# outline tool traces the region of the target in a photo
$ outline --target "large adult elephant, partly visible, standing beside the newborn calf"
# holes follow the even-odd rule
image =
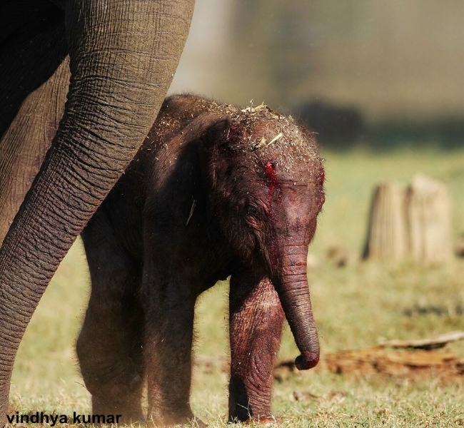
[[[0,241],[9,231],[0,250],[0,427],[24,330],[150,130],[193,4],[1,1]]]

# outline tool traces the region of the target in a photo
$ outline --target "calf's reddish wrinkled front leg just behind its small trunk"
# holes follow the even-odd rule
[[[232,275],[229,300],[229,421],[275,422],[272,371],[284,318],[277,292],[268,278],[245,271]]]

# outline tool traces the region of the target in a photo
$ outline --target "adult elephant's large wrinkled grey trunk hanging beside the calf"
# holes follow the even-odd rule
[[[193,0],[66,1],[68,101],[0,250],[0,422],[26,325],[156,118],[192,11]]]

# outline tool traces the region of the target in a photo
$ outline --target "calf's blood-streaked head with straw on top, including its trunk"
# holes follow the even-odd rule
[[[268,109],[211,117],[201,158],[211,210],[244,264],[267,275],[301,351],[319,345],[306,277],[308,245],[324,202],[324,170],[313,133]]]

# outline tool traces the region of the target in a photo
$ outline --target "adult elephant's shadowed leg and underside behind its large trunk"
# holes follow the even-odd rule
[[[17,3],[10,7],[24,16],[0,23],[0,245],[51,146],[69,83],[63,12],[46,0]]]

